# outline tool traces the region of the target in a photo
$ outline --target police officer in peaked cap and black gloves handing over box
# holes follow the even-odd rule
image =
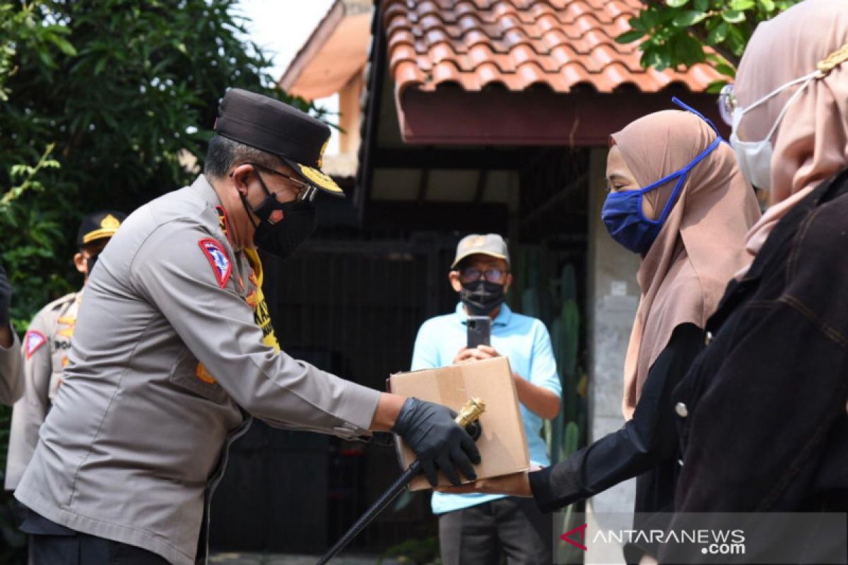
[[[36,561],[203,559],[204,509],[251,415],[347,438],[391,429],[431,482],[437,468],[475,476],[479,453],[448,408],[279,351],[255,248],[287,256],[315,228],[316,193],[343,196],[320,170],[330,130],[248,91],[228,91],[219,114],[204,174],[132,213],[86,286],[14,493]]]

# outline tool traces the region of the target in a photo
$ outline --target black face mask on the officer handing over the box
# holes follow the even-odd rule
[[[265,200],[259,204],[259,208],[251,210],[247,198],[241,197],[244,208],[259,218],[259,224],[254,224],[254,243],[262,251],[282,259],[287,258],[315,231],[315,207],[312,202],[278,202],[276,195],[265,186],[259,172],[256,169],[254,172],[265,191]],[[282,215],[275,214],[276,211],[282,212]],[[272,219],[272,216],[275,218]]]

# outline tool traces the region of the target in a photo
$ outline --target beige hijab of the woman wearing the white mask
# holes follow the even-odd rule
[[[844,0],[806,0],[760,24],[739,63],[734,86],[746,108],[790,80],[817,69],[817,63],[848,43]],[[799,86],[745,114],[737,135],[762,140]],[[789,210],[820,182],[848,166],[848,63],[812,80],[793,102],[773,139],[769,208],[748,232],[745,274],[768,235]]]

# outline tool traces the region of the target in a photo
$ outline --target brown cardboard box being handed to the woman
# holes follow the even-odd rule
[[[486,412],[480,417],[483,435],[477,440],[477,449],[483,458],[482,463],[475,466],[477,479],[519,473],[530,468],[516,385],[512,382],[512,370],[506,357],[398,373],[388,380],[394,394],[438,402],[456,412],[472,396],[486,402]],[[402,441],[399,443],[401,465],[408,468],[416,457]],[[460,478],[465,480],[462,474]],[[449,484],[447,477],[439,473],[439,485]],[[410,483],[410,490],[428,488],[430,484],[424,475]]]

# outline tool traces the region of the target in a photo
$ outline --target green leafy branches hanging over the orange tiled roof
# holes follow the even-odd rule
[[[666,69],[709,62],[733,78],[757,23],[801,0],[666,0],[644,2],[619,43],[640,42],[643,67]],[[711,86],[717,91],[724,84]]]

